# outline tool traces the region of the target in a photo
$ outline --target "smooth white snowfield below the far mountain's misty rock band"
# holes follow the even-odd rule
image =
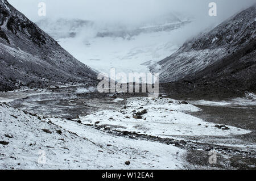
[[[69,37],[60,39],[59,44],[77,60],[101,73],[149,72],[146,61],[163,60],[179,46],[172,42],[173,32],[142,33],[131,39],[122,37]]]

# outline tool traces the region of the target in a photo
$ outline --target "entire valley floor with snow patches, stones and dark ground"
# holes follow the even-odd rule
[[[90,91],[0,93],[0,168],[255,169],[254,97],[184,102]]]

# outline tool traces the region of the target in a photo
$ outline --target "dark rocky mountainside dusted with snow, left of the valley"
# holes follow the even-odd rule
[[[0,90],[94,82],[96,73],[77,61],[6,0],[0,1]]]

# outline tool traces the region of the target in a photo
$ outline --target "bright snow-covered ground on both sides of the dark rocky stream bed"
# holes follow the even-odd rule
[[[184,136],[184,140],[185,136],[250,132],[229,125],[228,130],[216,128],[189,115],[200,108],[174,99],[138,97],[112,101],[126,104],[124,108],[102,107],[80,117],[82,123],[50,115],[38,117],[0,103],[0,169],[185,169],[188,165],[184,149],[115,136],[86,124],[162,138]],[[134,110],[147,112],[142,119],[135,119]],[[131,164],[127,166],[126,161]]]

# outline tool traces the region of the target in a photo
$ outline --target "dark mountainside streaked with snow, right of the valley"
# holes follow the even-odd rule
[[[252,87],[255,66],[255,5],[221,23],[208,33],[187,41],[170,57],[151,66],[160,82],[212,80]]]

